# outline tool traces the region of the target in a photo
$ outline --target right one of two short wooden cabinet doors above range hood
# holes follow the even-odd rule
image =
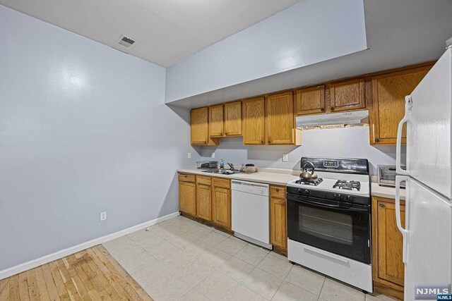
[[[365,108],[364,78],[330,85],[330,111]]]

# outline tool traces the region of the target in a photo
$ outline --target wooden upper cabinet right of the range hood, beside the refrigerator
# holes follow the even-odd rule
[[[405,115],[405,96],[411,94],[430,67],[372,78],[371,144],[395,145],[398,123]],[[406,143],[406,125],[402,142]]]

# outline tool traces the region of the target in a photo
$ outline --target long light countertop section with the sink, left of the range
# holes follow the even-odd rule
[[[258,168],[256,173],[234,173],[233,175],[219,175],[216,173],[204,173],[198,168],[181,168],[179,173],[194,173],[200,176],[212,176],[217,178],[230,178],[234,180],[247,180],[250,182],[266,183],[271,185],[286,185],[287,182],[298,178],[299,171],[278,168]],[[295,173],[295,174],[294,174]]]

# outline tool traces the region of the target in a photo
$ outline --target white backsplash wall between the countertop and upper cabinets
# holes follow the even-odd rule
[[[369,127],[304,130],[302,146],[243,145],[242,137],[221,138],[218,147],[198,147],[203,159],[224,159],[234,164],[251,163],[260,167],[299,169],[302,156],[325,156],[368,159],[371,173],[379,164],[396,165],[396,147],[369,145]],[[405,153],[405,147],[403,148]],[[289,161],[283,162],[283,154]],[[403,154],[402,161],[405,154]]]

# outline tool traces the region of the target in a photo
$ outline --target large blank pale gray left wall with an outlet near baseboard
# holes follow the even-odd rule
[[[0,271],[177,211],[165,68],[4,6],[0,41]]]

